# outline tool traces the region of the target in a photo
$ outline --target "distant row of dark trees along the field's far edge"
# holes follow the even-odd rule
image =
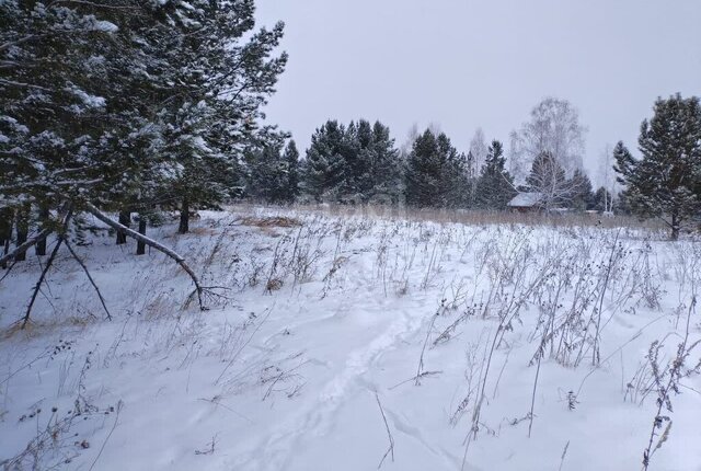
[[[612,195],[593,191],[576,169],[567,177],[551,152],[532,162],[525,184],[506,169],[504,146],[493,140],[478,159],[458,151],[445,133],[430,128],[400,151],[390,129],[360,119],[330,119],[311,137],[299,159],[294,140],[251,151],[244,197],[267,203],[405,204],[414,207],[502,210],[519,192],[540,194],[538,205],[576,210],[610,210]]]

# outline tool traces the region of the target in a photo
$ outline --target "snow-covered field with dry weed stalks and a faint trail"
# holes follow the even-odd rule
[[[678,366],[650,469],[701,470],[698,242],[243,207],[174,232],[206,312],[104,233],[78,252],[111,322],[68,252],[26,331],[39,261],[0,282],[7,469],[640,469]]]

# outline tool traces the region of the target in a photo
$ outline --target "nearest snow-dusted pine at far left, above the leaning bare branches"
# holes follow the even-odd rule
[[[129,94],[145,78],[130,72],[125,27],[150,15],[127,0],[0,3],[0,206],[22,215],[18,228],[35,215],[39,229],[58,230],[50,210],[108,205],[150,164],[133,152],[152,129]]]

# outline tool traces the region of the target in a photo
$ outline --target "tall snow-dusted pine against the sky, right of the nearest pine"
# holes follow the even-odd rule
[[[244,148],[271,131],[258,125],[261,108],[287,55],[273,57],[281,23],[250,33],[253,0],[170,1],[162,9],[173,34],[158,49],[169,76],[159,122],[165,153],[176,162],[166,193],[183,233],[192,210],[217,207],[239,192]]]

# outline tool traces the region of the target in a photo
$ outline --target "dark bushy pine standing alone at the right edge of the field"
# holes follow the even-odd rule
[[[673,240],[701,212],[701,104],[680,94],[658,99],[637,140],[642,160],[622,145],[614,150],[625,200],[641,217],[657,217]]]

